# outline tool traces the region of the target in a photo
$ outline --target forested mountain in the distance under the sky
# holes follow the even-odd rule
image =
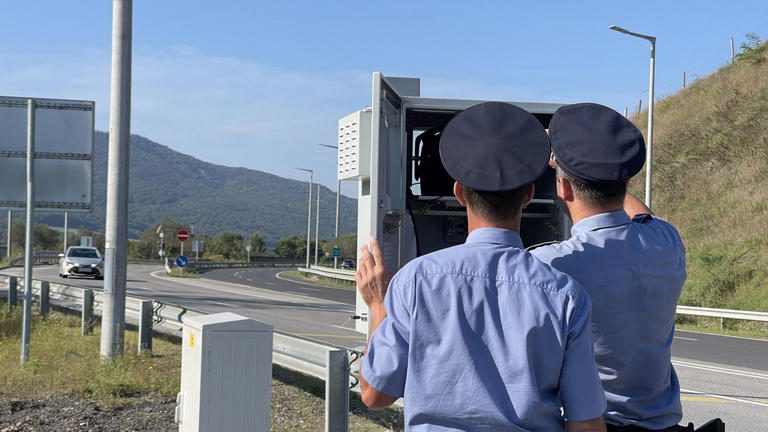
[[[109,136],[96,132],[93,160],[93,212],[70,213],[70,228],[104,230],[107,150]],[[307,232],[308,184],[262,171],[214,165],[195,159],[139,135],[131,136],[128,235],[164,217],[194,226],[196,234],[216,236],[224,231],[246,238],[261,232],[268,246],[293,234]],[[314,237],[317,186],[312,191]],[[63,225],[63,215],[38,213],[43,223]],[[320,187],[320,238],[332,239],[336,192]],[[341,196],[340,233],[354,233],[357,201]]]

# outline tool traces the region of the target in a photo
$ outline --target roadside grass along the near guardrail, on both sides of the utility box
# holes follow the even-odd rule
[[[80,320],[59,312],[45,319],[33,314],[30,361],[19,366],[20,309],[9,313],[7,303],[0,301],[0,399],[36,400],[66,394],[109,409],[141,403],[133,396],[154,393],[175,398],[179,391],[178,344],[155,338],[152,355],[137,355],[136,333],[126,331],[125,355],[103,363],[99,359],[100,328],[92,336],[80,336]],[[272,430],[322,430],[324,383],[279,367],[273,368],[273,377]],[[351,398],[350,408],[351,430],[402,428],[400,413],[368,411],[357,396]]]

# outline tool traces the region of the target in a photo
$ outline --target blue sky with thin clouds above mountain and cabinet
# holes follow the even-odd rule
[[[97,103],[108,129],[111,2],[4,1],[0,94]],[[754,1],[134,1],[132,132],[205,161],[335,189],[340,117],[370,104],[370,75],[422,95],[647,104],[724,65],[729,39],[768,37]],[[345,192],[348,190],[345,189]]]

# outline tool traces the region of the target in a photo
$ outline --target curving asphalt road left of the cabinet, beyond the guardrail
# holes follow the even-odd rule
[[[200,312],[235,312],[270,323],[281,332],[360,349],[365,336],[354,330],[350,318],[355,313],[354,291],[279,278],[278,274],[284,271],[272,268],[215,270],[206,273],[204,278],[187,279],[169,278],[159,265],[131,265],[127,290],[131,296]],[[18,268],[3,273],[23,275]],[[36,267],[33,277],[97,290],[104,286],[104,281],[90,278],[62,279],[57,267]]]

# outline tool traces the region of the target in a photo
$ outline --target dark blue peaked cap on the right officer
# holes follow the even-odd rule
[[[616,111],[593,103],[566,105],[549,122],[557,165],[588,182],[625,181],[645,163],[643,135]]]

